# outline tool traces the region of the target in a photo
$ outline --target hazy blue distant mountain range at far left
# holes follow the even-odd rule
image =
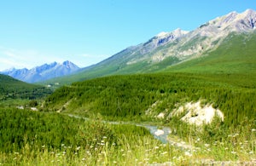
[[[54,77],[62,77],[73,72],[79,71],[79,66],[76,66],[71,61],[64,61],[63,63],[53,62],[51,64],[44,64],[43,66],[36,66],[31,70],[23,69],[9,69],[0,72],[11,77],[15,77],[26,83],[36,83]]]

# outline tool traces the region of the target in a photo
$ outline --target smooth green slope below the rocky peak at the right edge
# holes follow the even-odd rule
[[[226,73],[256,76],[256,31],[231,33],[205,56],[170,66],[168,72]]]

